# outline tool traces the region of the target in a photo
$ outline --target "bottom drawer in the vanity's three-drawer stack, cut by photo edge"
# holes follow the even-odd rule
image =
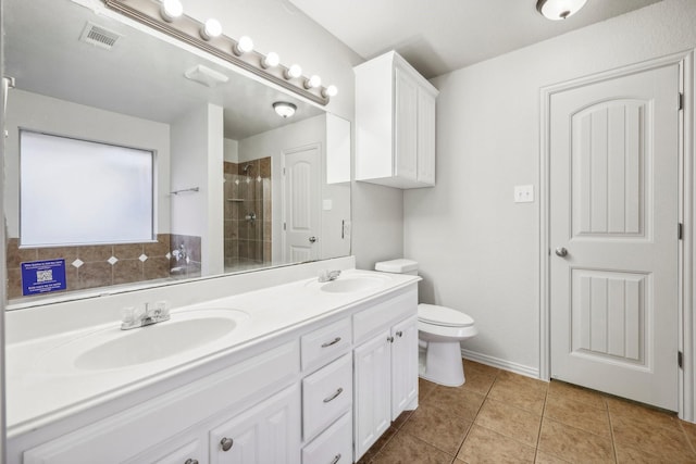
[[[350,464],[352,462],[352,415],[344,414],[302,449],[302,464]]]

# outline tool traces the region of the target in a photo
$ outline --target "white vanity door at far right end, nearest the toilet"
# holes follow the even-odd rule
[[[391,421],[418,398],[418,316],[391,328]]]

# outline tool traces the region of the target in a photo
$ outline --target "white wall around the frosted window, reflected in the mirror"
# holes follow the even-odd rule
[[[8,237],[20,236],[20,128],[154,150],[156,231],[170,231],[170,126],[12,89],[8,98],[4,215]]]

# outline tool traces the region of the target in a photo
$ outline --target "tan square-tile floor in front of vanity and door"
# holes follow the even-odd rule
[[[464,361],[457,388],[420,380],[420,405],[359,464],[696,463],[696,425],[568,384]]]

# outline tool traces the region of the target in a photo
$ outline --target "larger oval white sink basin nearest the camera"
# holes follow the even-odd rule
[[[234,335],[249,318],[244,311],[206,309],[173,312],[166,322],[121,330],[110,327],[72,340],[45,356],[51,365],[69,363],[77,371],[137,366],[170,356],[202,355]]]

